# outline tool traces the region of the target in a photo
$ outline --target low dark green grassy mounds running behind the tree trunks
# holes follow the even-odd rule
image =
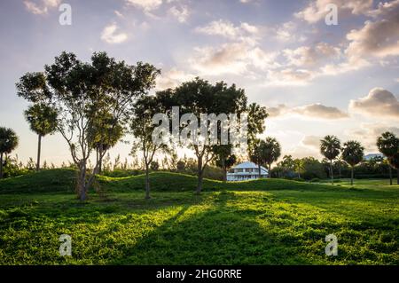
[[[21,177],[0,180],[0,193],[73,193],[76,174],[72,169],[49,169]],[[143,191],[145,175],[132,177],[98,178],[102,191],[109,193],[130,193]],[[197,177],[169,173],[154,172],[150,175],[153,192],[192,192],[197,187]],[[332,190],[329,185],[314,185],[282,179],[261,179],[244,182],[221,182],[204,179],[204,191],[220,190]]]

